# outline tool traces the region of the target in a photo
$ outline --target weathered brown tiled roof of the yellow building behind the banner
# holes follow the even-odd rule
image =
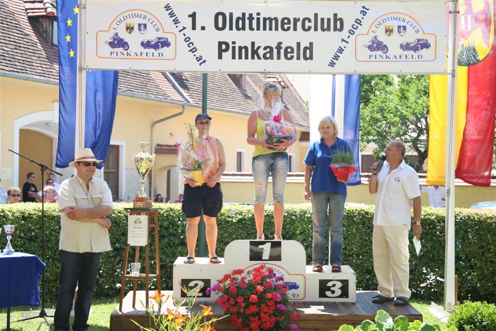
[[[55,8],[54,2],[55,0],[0,0],[0,71],[58,81],[58,49],[34,28],[31,20],[38,18],[28,18],[43,16],[41,6],[46,9],[53,5]],[[201,104],[201,73],[171,73],[171,76],[190,103]],[[246,115],[257,109],[264,79],[260,74],[249,74],[246,77],[246,89],[243,90],[225,73],[209,74],[208,106]],[[270,78],[284,87],[283,100],[295,124],[308,128],[306,106],[291,82],[285,75]],[[164,73],[156,71],[120,71],[119,92],[186,102]]]

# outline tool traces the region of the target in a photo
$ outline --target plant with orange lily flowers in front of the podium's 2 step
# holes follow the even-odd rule
[[[189,293],[189,290],[185,287],[182,286],[181,289],[183,292]],[[140,328],[140,331],[215,331],[213,325],[217,320],[224,317],[209,318],[209,316],[213,315],[212,307],[200,305],[201,311],[196,314],[192,313],[192,308],[196,302],[196,295],[199,290],[200,288],[197,288],[193,296],[186,297],[181,301],[175,300],[170,295],[166,296],[156,290],[155,295],[150,296],[150,299],[153,299],[157,306],[156,311],[153,308],[155,305],[150,309],[141,303],[145,307],[146,313],[150,316],[150,327],[142,327],[136,321],[131,321]],[[164,307],[169,299],[172,300],[169,304],[172,303],[173,309]],[[180,307],[182,306],[183,310],[186,311],[185,314],[180,312]]]

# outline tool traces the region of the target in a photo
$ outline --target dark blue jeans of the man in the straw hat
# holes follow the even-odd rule
[[[61,250],[59,255],[61,257],[60,288],[54,327],[56,330],[69,331],[69,316],[77,285],[72,330],[85,330],[88,328],[88,315],[102,253],[72,253]]]

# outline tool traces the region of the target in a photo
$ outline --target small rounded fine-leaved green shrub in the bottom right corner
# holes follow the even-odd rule
[[[464,302],[449,316],[449,326],[459,331],[495,331],[496,306],[487,302]]]

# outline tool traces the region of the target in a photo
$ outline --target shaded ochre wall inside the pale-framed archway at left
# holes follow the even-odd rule
[[[33,160],[49,165],[52,163],[52,141],[53,139],[43,133],[32,130],[20,130],[19,133],[19,154],[25,155]],[[33,148],[36,146],[36,148]],[[22,190],[22,184],[26,182],[28,172],[34,172],[34,184],[38,191],[43,188],[41,182],[40,167],[34,163],[30,163],[25,159],[19,159],[19,187]],[[45,174],[44,180],[47,181],[48,176]]]

